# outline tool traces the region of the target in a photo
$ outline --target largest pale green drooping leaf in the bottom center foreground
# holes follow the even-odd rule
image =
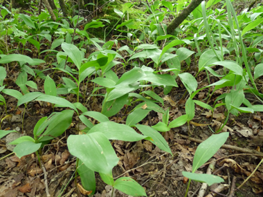
[[[118,164],[119,159],[103,133],[69,135],[67,144],[69,152],[80,158],[92,171],[110,174],[114,166]]]

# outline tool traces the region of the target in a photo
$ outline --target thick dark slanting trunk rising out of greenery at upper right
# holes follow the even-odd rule
[[[183,11],[176,17],[170,24],[167,26],[167,34],[172,34],[172,32],[179,27],[179,25],[190,15],[192,11],[194,11],[197,6],[202,2],[203,0],[192,0],[190,4],[183,9]]]

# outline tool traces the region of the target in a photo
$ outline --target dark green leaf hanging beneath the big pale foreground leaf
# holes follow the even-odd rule
[[[96,179],[94,171],[84,165],[84,163],[80,159],[78,161],[77,169],[83,188],[87,191],[92,191],[91,195],[93,195],[96,189]]]

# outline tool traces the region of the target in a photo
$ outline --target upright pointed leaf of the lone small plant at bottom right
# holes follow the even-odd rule
[[[226,142],[229,133],[220,133],[211,135],[208,139],[201,142],[194,153],[194,161],[192,163],[192,172],[196,171],[207,162]]]

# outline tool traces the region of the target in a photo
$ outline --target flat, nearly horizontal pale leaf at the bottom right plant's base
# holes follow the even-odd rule
[[[219,177],[219,176],[215,176],[212,174],[206,174],[206,173],[191,173],[188,171],[182,171],[183,176],[191,179],[191,180],[195,180],[197,182],[206,182],[208,184],[208,186],[213,185],[214,183],[219,183],[219,182],[224,182],[224,179]]]

